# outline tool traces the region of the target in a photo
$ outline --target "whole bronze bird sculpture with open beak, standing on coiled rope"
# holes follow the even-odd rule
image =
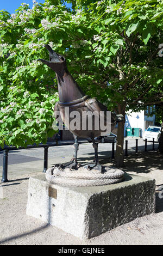
[[[58,81],[58,92],[59,92],[59,102],[55,105],[55,111],[59,111],[62,116],[62,120],[64,121],[65,125],[68,127],[70,122],[70,119],[66,119],[65,117],[65,107],[69,107],[70,113],[74,110],[78,111],[80,113],[80,117],[88,119],[88,117],[84,117],[82,114],[87,113],[90,111],[91,113],[104,113],[104,119],[106,121],[106,112],[108,109],[99,102],[96,98],[92,98],[88,95],[85,95],[82,89],[78,86],[76,81],[74,81],[73,77],[70,75],[70,73],[67,70],[66,66],[66,60],[63,56],[55,53],[52,48],[49,45],[45,45],[49,52],[49,61],[44,59],[38,59],[44,64],[48,65],[49,68],[51,68],[57,76]],[[101,130],[95,129],[95,119],[93,120],[92,129],[90,130],[89,127],[86,127],[85,130],[82,130],[82,127],[80,130],[71,130],[74,134],[74,156],[73,159],[70,162],[67,163],[61,163],[61,164],[55,164],[55,167],[59,167],[60,169],[64,168],[71,168],[76,169],[80,167],[81,165],[78,164],[77,161],[77,151],[79,147],[78,143],[78,137],[82,138],[88,138],[90,137],[93,142],[93,148],[95,149],[95,160],[91,163],[85,164],[85,167],[87,169],[98,169],[102,170],[102,166],[98,162],[98,143],[95,142],[95,137],[98,137],[101,135]],[[118,121],[122,121],[123,116],[122,115],[116,115],[115,113],[111,112],[111,129],[116,125]]]

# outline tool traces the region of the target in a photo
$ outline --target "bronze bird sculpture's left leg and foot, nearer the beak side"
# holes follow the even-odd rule
[[[54,167],[58,167],[59,169],[65,169],[65,168],[70,168],[71,170],[77,169],[78,167],[77,154],[79,149],[78,136],[74,136],[73,146],[74,146],[74,153],[71,161],[66,163],[57,163],[54,165]]]

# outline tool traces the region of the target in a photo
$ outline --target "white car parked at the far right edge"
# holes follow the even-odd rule
[[[148,129],[143,134],[143,140],[147,139],[147,141],[160,142],[161,136],[161,127],[159,126],[149,126]]]

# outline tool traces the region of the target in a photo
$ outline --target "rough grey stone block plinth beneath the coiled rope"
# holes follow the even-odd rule
[[[29,179],[27,215],[87,239],[155,212],[155,180],[125,174],[118,184],[62,187]]]

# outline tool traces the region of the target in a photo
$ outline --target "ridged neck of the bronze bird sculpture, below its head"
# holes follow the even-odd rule
[[[60,102],[64,103],[77,100],[85,95],[82,89],[80,89],[76,81],[74,81],[73,77],[68,72],[65,72],[62,78],[57,75],[57,80]]]

